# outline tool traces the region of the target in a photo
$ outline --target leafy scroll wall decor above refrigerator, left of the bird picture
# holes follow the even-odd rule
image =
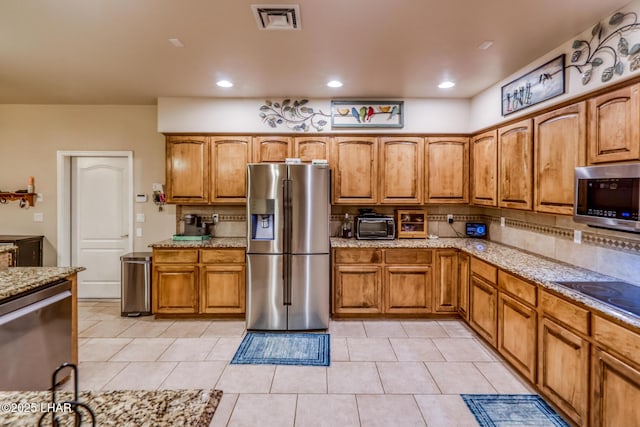
[[[325,118],[331,117],[322,110],[315,110],[308,106],[308,99],[291,100],[282,102],[266,100],[260,107],[259,116],[263,123],[276,128],[284,126],[291,130],[307,132],[315,129],[320,132],[329,123]]]

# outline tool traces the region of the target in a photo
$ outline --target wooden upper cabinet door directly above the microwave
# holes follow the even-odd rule
[[[589,100],[589,163],[640,160],[640,84]]]

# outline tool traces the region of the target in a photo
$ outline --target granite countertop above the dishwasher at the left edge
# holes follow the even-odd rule
[[[63,279],[84,267],[10,267],[0,271],[0,301]]]

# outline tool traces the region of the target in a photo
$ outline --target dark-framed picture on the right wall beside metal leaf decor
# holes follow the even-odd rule
[[[564,93],[564,54],[502,86],[502,115]]]

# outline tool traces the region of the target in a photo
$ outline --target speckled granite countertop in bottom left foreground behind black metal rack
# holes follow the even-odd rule
[[[59,392],[57,401],[72,397],[71,392]],[[205,427],[211,423],[221,397],[219,390],[114,390],[83,391],[78,400],[92,409],[96,426]],[[0,425],[37,426],[49,404],[48,391],[1,391]],[[61,425],[73,425],[68,406],[58,405],[55,411],[63,421]],[[83,421],[89,419],[88,415],[83,417]],[[50,418],[46,420],[50,425]]]

